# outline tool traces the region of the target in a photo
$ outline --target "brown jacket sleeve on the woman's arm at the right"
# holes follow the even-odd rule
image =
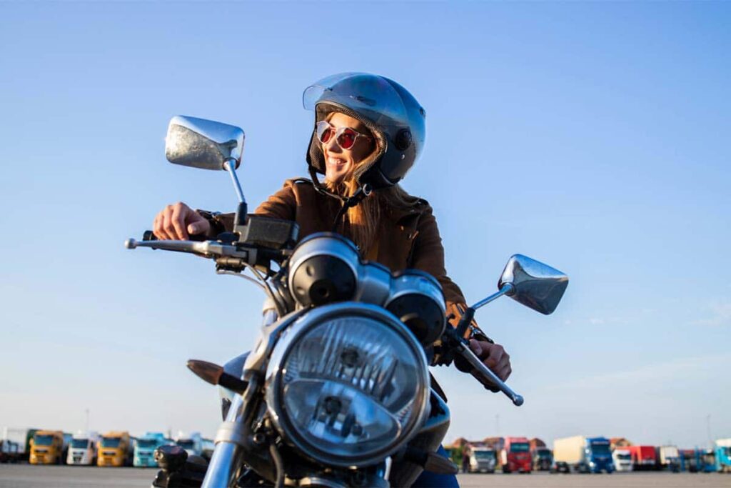
[[[447,270],[444,269],[442,237],[439,235],[439,228],[436,225],[431,207],[423,211],[417,224],[410,263],[413,268],[431,274],[442,285],[444,301],[447,305],[447,317],[452,317],[450,318],[450,324],[452,327],[456,327],[467,305],[462,290],[447,276]],[[465,334],[466,337],[475,337],[492,342],[474,320]]]

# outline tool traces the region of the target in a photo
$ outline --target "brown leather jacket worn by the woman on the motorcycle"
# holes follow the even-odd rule
[[[254,213],[295,220],[300,226],[302,239],[311,233],[333,230],[333,221],[340,206],[335,198],[317,192],[310,181],[289,179]],[[232,230],[233,214],[221,215],[218,219],[226,230]],[[385,212],[379,231],[376,261],[391,271],[420,269],[435,277],[444,290],[447,314],[455,315],[456,320],[452,319],[452,325],[456,325],[461,311],[466,308],[465,299],[444,269],[442,238],[431,206],[425,200],[420,200],[413,209],[388,209]],[[484,336],[474,323],[473,332]]]

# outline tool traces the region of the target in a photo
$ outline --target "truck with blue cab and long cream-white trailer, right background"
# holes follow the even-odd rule
[[[556,462],[566,462],[581,473],[614,472],[609,439],[605,437],[588,438],[575,435],[553,440],[553,459]]]

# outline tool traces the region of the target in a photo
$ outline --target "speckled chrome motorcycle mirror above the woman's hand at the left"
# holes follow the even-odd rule
[[[176,165],[205,170],[223,170],[228,159],[240,165],[243,130],[212,120],[175,116],[165,138],[165,157]]]

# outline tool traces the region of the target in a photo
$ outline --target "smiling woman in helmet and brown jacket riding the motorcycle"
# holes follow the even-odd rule
[[[444,269],[444,248],[431,206],[398,185],[423,149],[424,109],[398,83],[366,73],[319,80],[305,90],[303,102],[315,112],[306,157],[311,180],[285,181],[255,213],[295,220],[300,238],[336,230],[357,244],[363,258],[391,271],[428,272],[441,283],[455,325],[465,299]],[[324,182],[317,173],[325,175]],[[159,239],[196,239],[213,238],[232,226],[232,214],[194,211],[175,203],[157,214],[153,229]],[[474,323],[467,334],[474,353],[499,378],[507,379],[510,356],[504,349]],[[456,479],[424,473],[415,486],[430,485],[456,486]]]

